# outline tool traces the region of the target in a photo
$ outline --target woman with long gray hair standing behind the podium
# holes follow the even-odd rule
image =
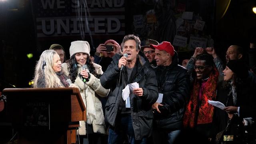
[[[60,56],[54,50],[45,50],[36,63],[34,88],[75,87],[66,82],[68,76],[61,70]]]

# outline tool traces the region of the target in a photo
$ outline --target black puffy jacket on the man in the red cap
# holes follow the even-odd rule
[[[182,128],[182,117],[189,97],[190,76],[188,70],[178,65],[175,52],[172,64],[154,69],[158,81],[158,91],[163,94],[163,101],[158,106],[161,113],[154,112],[154,127],[168,131]]]

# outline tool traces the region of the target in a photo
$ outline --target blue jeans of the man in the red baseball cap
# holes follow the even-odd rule
[[[174,144],[180,133],[181,130],[174,130],[172,132],[153,130],[153,142],[154,144]]]

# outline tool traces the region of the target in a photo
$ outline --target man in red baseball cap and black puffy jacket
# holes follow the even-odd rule
[[[153,141],[154,144],[173,144],[182,130],[190,77],[188,70],[178,65],[178,54],[170,42],[150,44],[150,48],[155,48],[157,67],[154,70],[159,97],[162,97],[162,101],[152,105]]]

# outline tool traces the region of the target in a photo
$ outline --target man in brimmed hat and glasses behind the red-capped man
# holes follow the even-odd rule
[[[149,45],[154,44],[158,45],[159,43],[156,40],[148,39],[146,40],[145,46],[141,46],[140,50],[145,54],[148,58],[149,64],[152,68],[156,67],[156,60],[154,59],[156,56],[155,48],[150,48]]]

